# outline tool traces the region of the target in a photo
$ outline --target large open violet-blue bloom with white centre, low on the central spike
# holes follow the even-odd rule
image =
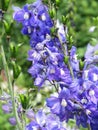
[[[69,118],[73,118],[73,103],[71,102],[70,98],[71,95],[69,89],[64,88],[61,90],[58,97],[51,96],[46,100],[47,106],[50,107],[52,113],[59,116],[61,121],[68,121]]]

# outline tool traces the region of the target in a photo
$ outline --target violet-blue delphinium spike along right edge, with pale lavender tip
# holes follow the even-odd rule
[[[97,47],[97,45],[96,45]],[[87,127],[87,124],[90,125],[92,123],[92,117],[94,113],[97,111],[97,103],[98,103],[98,67],[96,62],[93,61],[93,54],[88,53],[92,51],[92,53],[96,50],[95,47],[92,47],[93,50],[88,50],[85,54],[85,64],[83,71],[81,73],[81,89],[78,91],[77,102],[79,102],[82,106],[82,109],[79,110],[79,113],[76,115],[77,125],[82,124],[83,127]],[[88,57],[87,57],[88,55]],[[91,62],[89,62],[92,59]],[[78,111],[77,111],[78,112]]]

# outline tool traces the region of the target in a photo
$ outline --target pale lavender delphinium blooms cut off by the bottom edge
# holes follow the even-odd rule
[[[26,126],[26,130],[65,130],[55,114],[45,114],[42,110],[32,113],[32,121]]]

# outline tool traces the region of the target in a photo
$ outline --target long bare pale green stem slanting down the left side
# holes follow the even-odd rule
[[[16,121],[17,121],[18,129],[22,130],[20,119],[18,117],[18,113],[17,113],[17,109],[16,109],[14,90],[13,90],[13,86],[12,86],[12,82],[11,82],[11,78],[10,78],[10,73],[9,73],[7,61],[6,61],[6,58],[5,58],[3,45],[0,46],[0,49],[1,49],[1,56],[2,56],[2,61],[3,61],[3,65],[4,65],[4,70],[5,70],[5,73],[6,73],[7,80],[8,80],[8,88],[9,88],[9,92],[10,92],[11,99],[12,99],[13,112],[14,112],[14,115],[15,115],[15,118],[16,118]]]

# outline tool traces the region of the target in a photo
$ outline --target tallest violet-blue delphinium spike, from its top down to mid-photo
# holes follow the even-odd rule
[[[53,21],[47,7],[40,0],[31,5],[25,5],[23,9],[16,7],[14,9],[14,19],[22,23],[23,34],[30,36],[32,49],[29,51],[28,60],[32,61],[32,67],[29,69],[29,73],[35,79],[34,84],[42,86],[46,80],[65,84],[70,82],[71,76],[63,61],[64,54],[60,40],[58,37],[52,38],[50,35]],[[61,34],[60,31],[59,34]],[[65,42],[64,33],[60,37],[63,37],[63,42]]]

